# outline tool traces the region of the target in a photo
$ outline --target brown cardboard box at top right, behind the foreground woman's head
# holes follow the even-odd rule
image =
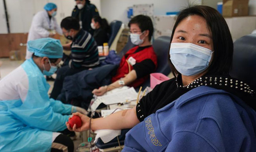
[[[223,0],[222,15],[224,17],[248,16],[249,0]]]

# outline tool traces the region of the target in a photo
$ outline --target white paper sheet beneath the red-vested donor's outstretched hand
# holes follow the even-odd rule
[[[98,97],[98,99],[102,100],[102,103],[108,105],[108,104],[116,104],[116,103],[124,103],[126,100],[132,101],[136,100],[138,96],[138,93],[135,91],[133,87],[118,91],[113,94],[107,94]]]

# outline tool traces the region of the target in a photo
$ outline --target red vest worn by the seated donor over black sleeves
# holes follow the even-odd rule
[[[152,46],[145,48],[137,53],[134,53],[139,46],[135,46],[134,48],[130,49],[127,53],[125,53],[124,57],[122,58],[120,65],[116,71],[116,75],[112,77],[112,82],[115,82],[116,80],[120,80],[120,78],[124,78],[126,74],[129,73],[129,67],[131,71],[133,70],[133,67],[131,64],[127,63],[127,60],[132,57],[136,60],[136,63],[139,63],[143,60],[150,59],[153,61],[153,63],[157,67],[157,56],[156,53],[154,52],[154,49]],[[156,69],[156,68],[155,68]],[[129,87],[139,87],[146,79],[148,76],[144,76],[143,78],[136,79],[133,81]]]

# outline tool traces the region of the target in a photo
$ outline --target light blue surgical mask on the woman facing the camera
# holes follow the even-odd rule
[[[178,72],[193,76],[207,69],[212,53],[210,49],[192,43],[172,43],[170,60]]]

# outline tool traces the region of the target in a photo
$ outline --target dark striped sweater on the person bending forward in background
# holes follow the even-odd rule
[[[94,67],[100,64],[98,48],[90,33],[80,30],[71,44],[70,68]]]

